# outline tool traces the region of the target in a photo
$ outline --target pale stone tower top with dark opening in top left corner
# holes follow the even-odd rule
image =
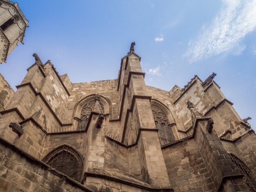
[[[25,36],[27,23],[18,3],[0,0],[0,63],[6,62],[7,56]]]

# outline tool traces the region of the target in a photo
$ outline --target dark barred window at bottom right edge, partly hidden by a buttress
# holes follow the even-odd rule
[[[236,171],[240,174],[243,174],[243,180],[245,181],[245,184],[247,185],[247,188],[250,191],[254,191],[256,192],[256,180],[253,176],[253,174],[251,173],[251,171],[247,168],[247,166],[240,161],[236,156],[229,154],[232,162],[234,163],[235,167],[236,167]]]

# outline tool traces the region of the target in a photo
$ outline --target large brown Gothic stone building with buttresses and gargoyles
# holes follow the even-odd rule
[[[117,79],[38,58],[16,92],[0,76],[0,191],[256,191],[256,135],[215,75],[150,87],[130,49]]]

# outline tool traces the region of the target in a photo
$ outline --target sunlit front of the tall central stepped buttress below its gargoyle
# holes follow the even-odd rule
[[[135,129],[138,133],[137,145],[143,179],[155,188],[170,187],[160,141],[150,106],[144,73],[141,71],[139,58],[136,54],[128,55],[127,73],[131,109]]]

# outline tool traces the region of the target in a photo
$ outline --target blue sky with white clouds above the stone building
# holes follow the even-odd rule
[[[0,65],[16,90],[34,63],[48,59],[72,83],[117,78],[135,41],[147,85],[170,90],[212,72],[242,118],[256,127],[256,0],[17,0],[29,20]]]

